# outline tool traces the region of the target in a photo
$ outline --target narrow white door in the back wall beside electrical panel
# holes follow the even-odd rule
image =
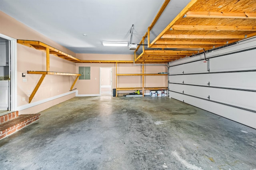
[[[112,95],[112,68],[100,68],[100,96]]]

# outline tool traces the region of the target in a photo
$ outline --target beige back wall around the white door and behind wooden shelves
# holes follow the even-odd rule
[[[133,55],[103,55],[103,54],[76,54],[82,60],[133,60]],[[79,95],[100,94],[100,67],[112,67],[112,88],[116,88],[116,65],[115,64],[87,64],[77,63],[79,66],[91,67],[91,80],[78,80],[76,87]],[[144,66],[145,73],[167,72],[166,66]],[[142,66],[134,64],[117,64],[118,74],[142,73]],[[118,87],[142,87],[142,76],[118,76]],[[145,76],[145,87],[167,87],[167,76]],[[120,93],[126,93],[122,91]],[[131,92],[131,91],[128,91]],[[146,91],[148,93],[149,91]]]

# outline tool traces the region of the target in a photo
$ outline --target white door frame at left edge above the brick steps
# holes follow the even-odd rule
[[[17,108],[17,39],[1,34],[0,37],[10,41],[10,99],[9,110],[16,111]]]

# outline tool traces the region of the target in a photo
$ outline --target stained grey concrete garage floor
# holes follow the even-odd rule
[[[250,170],[256,129],[167,97],[76,97],[0,141],[1,170]]]

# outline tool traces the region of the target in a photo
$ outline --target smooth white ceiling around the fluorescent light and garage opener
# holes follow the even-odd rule
[[[179,1],[182,0],[171,0],[174,13],[168,18],[174,18],[187,3],[178,5]],[[0,10],[75,53],[133,54],[128,47],[104,47],[102,41],[130,42],[134,24],[132,43],[140,43],[163,3],[164,0],[0,0]]]

